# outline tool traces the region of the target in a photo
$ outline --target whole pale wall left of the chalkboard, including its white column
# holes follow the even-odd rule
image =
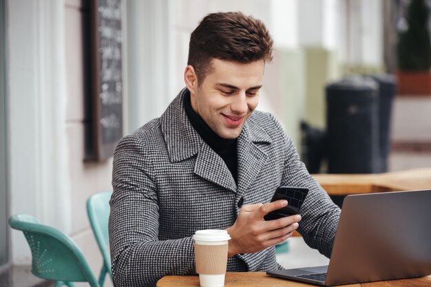
[[[85,202],[112,189],[112,159],[84,162],[87,3],[8,1],[10,213],[29,213],[70,235],[98,275],[102,260]],[[23,234],[11,237],[12,263],[29,265]]]

